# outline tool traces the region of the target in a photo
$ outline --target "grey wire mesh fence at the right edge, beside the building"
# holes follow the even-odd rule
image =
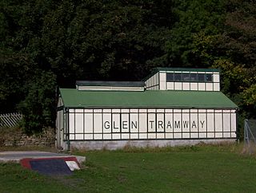
[[[256,120],[245,120],[244,142],[247,153],[256,152]]]

